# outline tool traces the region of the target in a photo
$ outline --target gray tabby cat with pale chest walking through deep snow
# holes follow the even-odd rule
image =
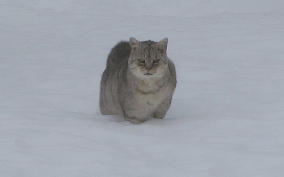
[[[160,42],[119,42],[102,74],[99,107],[104,115],[122,115],[135,124],[163,119],[177,84],[175,65],[167,57],[168,38]]]

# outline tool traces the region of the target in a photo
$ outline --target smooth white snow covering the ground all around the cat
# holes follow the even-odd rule
[[[283,176],[283,1],[0,1],[0,176]],[[119,40],[169,38],[163,120],[99,113]]]

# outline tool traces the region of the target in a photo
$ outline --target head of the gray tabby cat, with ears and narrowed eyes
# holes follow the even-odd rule
[[[140,78],[162,77],[168,69],[167,45],[168,38],[154,42],[139,42],[129,39],[131,54],[129,57],[130,71]]]

